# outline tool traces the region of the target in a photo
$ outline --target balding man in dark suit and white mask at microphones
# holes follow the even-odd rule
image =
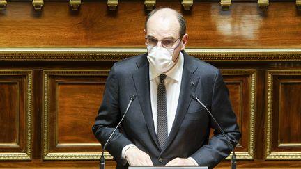
[[[105,144],[136,95],[120,129],[107,145],[116,168],[131,166],[208,166],[229,155],[231,147],[198,96],[224,129],[233,147],[240,131],[222,74],[212,65],[188,56],[185,19],[176,10],[160,8],[146,18],[148,53],[111,67],[102,105],[93,126]],[[214,136],[209,138],[210,129]]]

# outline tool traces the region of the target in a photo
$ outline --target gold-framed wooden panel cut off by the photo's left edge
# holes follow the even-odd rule
[[[30,70],[0,70],[0,120],[0,159],[31,159]]]

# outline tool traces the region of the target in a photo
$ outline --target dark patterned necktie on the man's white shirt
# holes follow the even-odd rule
[[[167,77],[165,74],[160,75],[160,82],[157,88],[157,139],[161,150],[167,141],[167,97],[164,80]]]

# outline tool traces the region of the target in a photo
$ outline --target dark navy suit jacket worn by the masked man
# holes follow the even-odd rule
[[[222,74],[212,65],[182,52],[184,67],[178,108],[164,150],[160,150],[153,125],[147,54],[119,61],[111,67],[93,126],[93,133],[102,145],[121,120],[130,95],[137,95],[121,129],[107,145],[107,151],[117,162],[116,168],[126,168],[121,150],[130,143],[148,153],[154,165],[164,165],[176,157],[191,156],[200,166],[212,168],[228,156],[231,147],[208,112],[190,97],[193,93],[213,113],[233,146],[238,143],[240,131]],[[215,129],[215,133],[209,140],[210,128]]]

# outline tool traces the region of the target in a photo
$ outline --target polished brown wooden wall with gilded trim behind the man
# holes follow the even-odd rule
[[[301,13],[295,2],[270,2],[265,9],[255,1],[233,2],[228,11],[210,1],[194,1],[190,11],[180,1],[156,6],[183,13],[190,51],[212,49],[192,55],[206,56],[224,74],[242,131],[238,167],[301,168]],[[101,147],[91,126],[107,73],[128,57],[116,49],[145,48],[147,13],[144,1],[119,1],[115,11],[106,1],[82,1],[77,11],[68,1],[45,1],[40,12],[31,1],[8,1],[0,11],[0,168],[98,168]],[[107,52],[108,59],[57,51],[56,59],[47,59],[54,54],[5,51],[41,47],[116,53]],[[214,49],[238,49],[233,56],[241,57],[249,56],[247,49],[258,52],[238,61]],[[108,168],[114,165],[107,160]],[[218,168],[229,165],[225,160]]]

